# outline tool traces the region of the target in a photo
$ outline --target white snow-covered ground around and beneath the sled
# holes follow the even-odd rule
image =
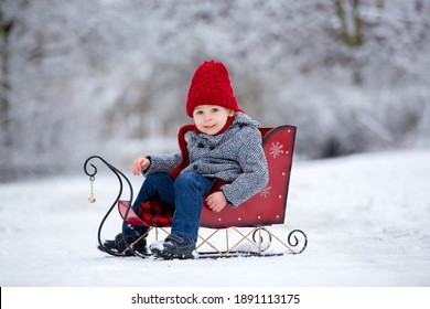
[[[294,162],[287,223],[302,228],[301,255],[153,260],[96,249],[117,194],[100,173],[0,185],[0,285],[12,286],[430,286],[430,150]],[[114,163],[114,162],[112,162]],[[135,189],[141,178],[132,178]],[[119,216],[107,223],[114,236]]]

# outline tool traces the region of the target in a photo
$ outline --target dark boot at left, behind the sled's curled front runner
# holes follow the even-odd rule
[[[127,243],[133,248],[133,251],[147,255],[148,249],[147,249],[147,238],[140,236],[135,236],[135,235],[126,235]],[[139,239],[139,241],[138,241]],[[114,241],[105,241],[103,244],[104,247],[98,246],[98,249],[105,252],[111,252],[114,254],[121,254],[123,256],[132,256],[132,252],[127,248],[126,243],[123,242],[122,238],[122,233],[119,233]]]

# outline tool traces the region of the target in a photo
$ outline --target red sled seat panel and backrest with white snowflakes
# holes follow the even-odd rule
[[[269,182],[259,193],[238,207],[224,207],[219,213],[203,207],[201,226],[225,228],[282,224],[286,217],[288,188],[292,166],[295,127],[260,128]]]

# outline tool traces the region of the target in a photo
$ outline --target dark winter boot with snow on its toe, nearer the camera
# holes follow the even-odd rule
[[[149,247],[155,257],[164,259],[198,258],[198,254],[195,251],[195,243],[189,237],[175,234],[170,234],[164,242],[154,242]]]

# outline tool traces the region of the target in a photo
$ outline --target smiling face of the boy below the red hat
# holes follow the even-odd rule
[[[234,110],[217,105],[198,105],[193,110],[194,124],[206,135],[219,132]]]

